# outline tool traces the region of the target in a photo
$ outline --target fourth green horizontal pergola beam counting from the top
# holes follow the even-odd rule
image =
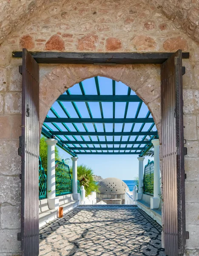
[[[132,144],[132,145],[134,145],[134,144],[147,144],[147,145],[150,145],[151,144],[151,142],[150,141],[148,141],[148,140],[143,140],[143,141],[68,141],[68,140],[62,140],[61,141],[61,143],[62,144],[97,144],[97,145],[99,145],[99,144],[103,144],[103,145],[105,145],[105,144],[123,144],[123,145],[125,145],[125,144]],[[74,148],[75,149],[75,148]],[[88,149],[89,150],[89,149]]]

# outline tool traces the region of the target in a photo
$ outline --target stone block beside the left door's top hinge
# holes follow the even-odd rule
[[[19,66],[11,70],[9,90],[22,91],[22,75],[19,73]]]

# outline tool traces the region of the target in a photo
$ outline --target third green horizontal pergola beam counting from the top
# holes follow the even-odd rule
[[[71,136],[147,136],[147,135],[157,135],[157,131],[127,131],[127,132],[85,132],[85,131],[51,131],[53,135],[71,135]]]

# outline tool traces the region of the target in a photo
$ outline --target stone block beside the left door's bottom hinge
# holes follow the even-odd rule
[[[0,230],[0,253],[20,253],[20,241],[17,241],[17,233],[20,230]],[[12,254],[13,255],[13,254]]]

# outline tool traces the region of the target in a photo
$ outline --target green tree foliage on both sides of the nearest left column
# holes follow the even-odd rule
[[[42,162],[42,167],[45,170],[45,174],[47,173],[47,144],[45,143],[45,137],[42,136],[40,139],[40,157],[41,157],[41,162]],[[55,161],[60,160],[60,154],[58,147],[55,146]]]

